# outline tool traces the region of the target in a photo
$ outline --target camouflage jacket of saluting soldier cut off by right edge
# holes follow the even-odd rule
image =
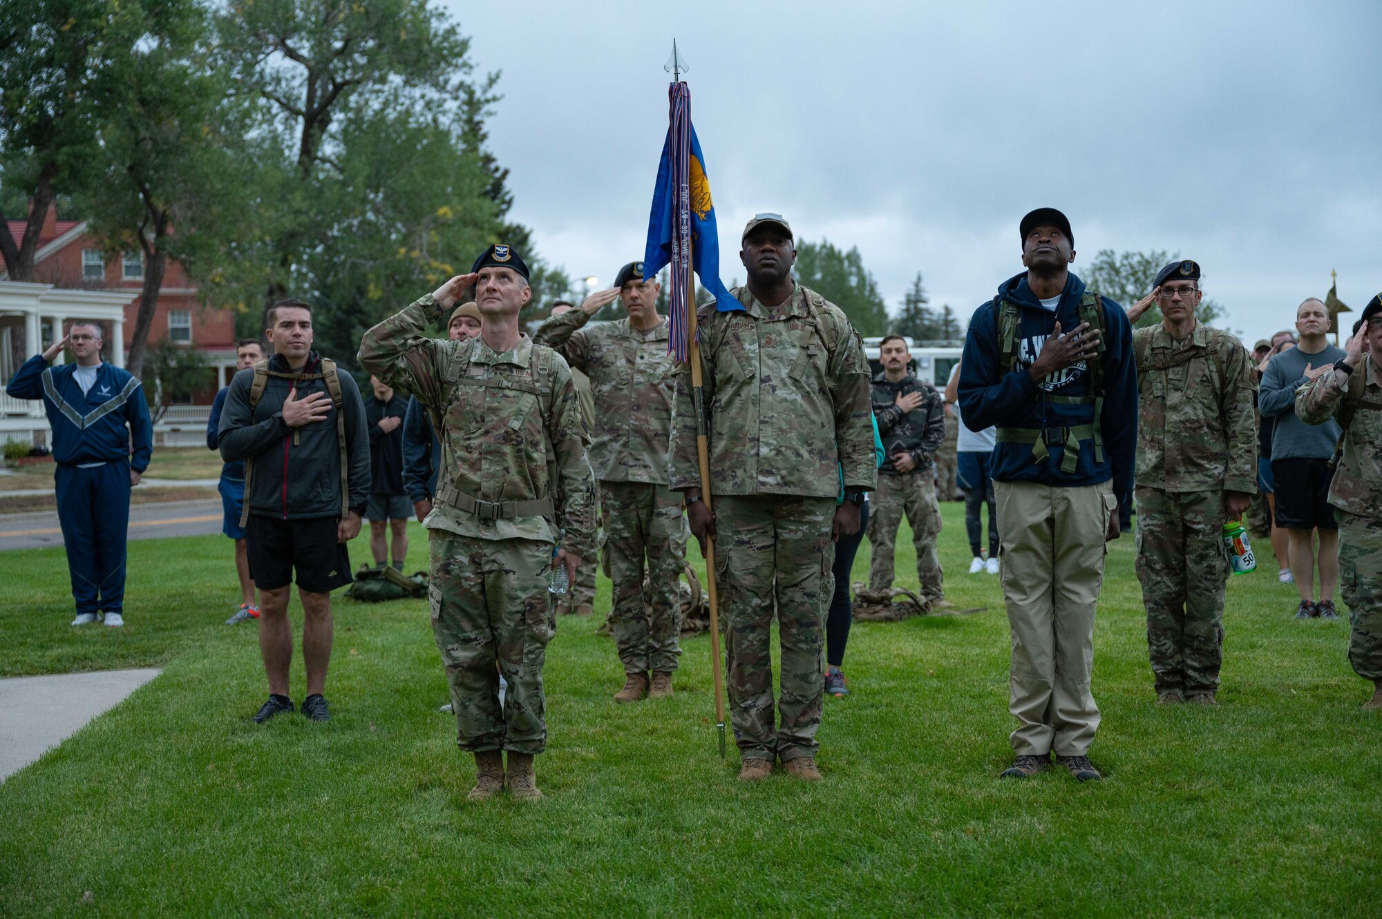
[[[1364,355],[1350,377],[1357,374],[1367,374],[1363,400],[1382,406],[1382,370],[1376,360]],[[1329,418],[1339,419],[1345,413],[1347,391],[1339,385],[1338,375],[1329,371],[1302,386],[1295,404],[1300,421],[1318,425]],[[1353,418],[1343,432],[1343,457],[1329,482],[1329,504],[1360,517],[1382,516],[1382,408],[1354,406]]]

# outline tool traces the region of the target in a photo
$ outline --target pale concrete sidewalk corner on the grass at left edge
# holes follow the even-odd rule
[[[0,782],[159,673],[140,669],[0,679]]]

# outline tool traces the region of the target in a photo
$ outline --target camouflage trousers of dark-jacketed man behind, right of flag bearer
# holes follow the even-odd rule
[[[868,564],[871,591],[893,586],[893,546],[897,527],[907,515],[916,549],[916,581],[920,593],[933,604],[945,599],[945,575],[936,551],[941,531],[941,509],[931,487],[931,471],[920,469],[896,476],[879,475],[878,490],[869,495],[868,541],[872,556]]]

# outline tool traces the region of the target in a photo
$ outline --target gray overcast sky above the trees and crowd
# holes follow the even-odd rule
[[[502,70],[513,217],[574,277],[643,257],[676,37],[726,283],[745,221],[779,211],[857,246],[890,310],[922,272],[967,319],[1049,204],[1077,273],[1179,250],[1249,339],[1331,268],[1356,310],[1382,290],[1378,0],[449,7]]]

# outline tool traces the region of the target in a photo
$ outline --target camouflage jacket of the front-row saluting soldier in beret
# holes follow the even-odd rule
[[[591,560],[594,476],[567,362],[527,335],[502,355],[480,337],[428,338],[439,315],[428,294],[370,328],[359,345],[361,366],[417,396],[437,425],[438,500],[423,526],[482,540],[549,542],[565,527],[562,548]],[[491,519],[444,501],[448,484],[462,500],[485,504],[550,497],[554,513]]]

